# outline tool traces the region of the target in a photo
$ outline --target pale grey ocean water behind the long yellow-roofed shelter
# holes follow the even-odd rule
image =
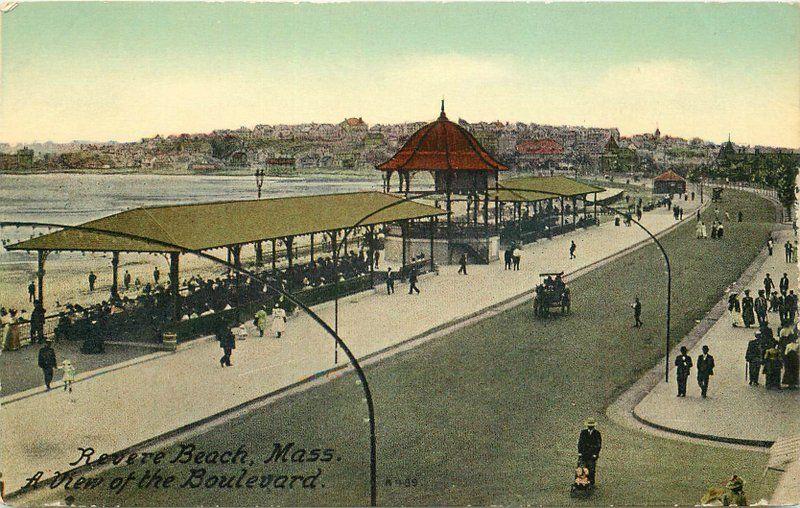
[[[378,172],[361,175],[267,177],[262,198],[380,190]],[[255,199],[253,176],[208,175],[0,175],[0,220],[80,224],[151,205]],[[4,243],[46,233],[38,228],[3,228]],[[0,265],[28,264],[33,256],[0,249]]]

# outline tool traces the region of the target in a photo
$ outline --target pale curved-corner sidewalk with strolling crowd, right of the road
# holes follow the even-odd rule
[[[776,246],[781,247],[791,235],[791,230],[781,230],[776,235]],[[773,256],[756,271],[755,276],[740,291],[750,289],[758,295],[763,289],[766,273],[776,281],[786,272],[789,289],[798,292],[798,267],[784,261],[783,249],[775,249]],[[727,301],[727,295],[726,295]],[[777,337],[776,313],[770,313],[770,324]],[[672,432],[709,439],[742,442],[743,444],[768,444],[781,437],[800,435],[800,391],[771,391],[761,386],[749,386],[745,379],[744,354],[747,343],[757,328],[734,328],[727,306],[722,317],[698,341],[689,355],[696,363],[702,346],[708,345],[716,367],[709,384],[708,398],[700,397],[696,370],[692,369],[687,384],[687,397],[677,398],[674,366],[670,383],[663,380],[634,408],[634,415],[650,425]],[[670,358],[670,363],[674,360]],[[748,443],[749,442],[749,443]]]

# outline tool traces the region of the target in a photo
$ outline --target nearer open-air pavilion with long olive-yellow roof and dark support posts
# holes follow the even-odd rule
[[[249,201],[222,201],[127,210],[108,217],[25,240],[6,248],[38,255],[38,300],[44,305],[44,275],[47,255],[54,251],[104,252],[112,255],[112,299],[118,295],[118,267],[122,253],[164,254],[170,260],[169,292],[173,317],[181,312],[180,257],[192,252],[227,249],[229,259],[241,267],[244,246],[272,242],[272,269],[276,268],[277,242],[285,246],[291,271],[293,246],[298,237],[310,238],[314,261],[315,239],[322,236],[334,263],[340,248],[360,228],[369,259],[377,246],[376,227],[389,223],[433,220],[445,211],[382,192],[353,192]],[[81,229],[83,228],[83,229]],[[317,254],[319,253],[319,249]],[[260,260],[259,260],[260,261]],[[433,259],[430,263],[433,264]],[[370,262],[370,277],[373,272]],[[237,288],[238,288],[237,271]],[[290,288],[291,289],[291,288]]]

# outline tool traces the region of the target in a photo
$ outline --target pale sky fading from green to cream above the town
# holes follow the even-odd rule
[[[20,3],[0,142],[451,119],[800,147],[797,4]]]

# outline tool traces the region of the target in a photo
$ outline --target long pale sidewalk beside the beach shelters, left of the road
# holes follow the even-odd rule
[[[699,199],[681,203],[690,221]],[[659,208],[643,224],[657,233],[673,226],[672,213]],[[577,259],[568,259],[571,240]],[[420,281],[421,295],[377,291],[340,301],[339,333],[357,357],[391,347],[454,320],[463,319],[531,290],[546,271],[573,272],[647,239],[638,227],[613,222],[525,248],[522,269],[502,263],[468,267],[469,275],[445,266]],[[333,305],[314,309],[333,323]],[[13,492],[36,471],[49,477],[69,469],[78,447],[98,454],[122,450],[185,425],[212,417],[334,366],[334,343],[306,315],[288,322],[284,338],[251,335],[237,343],[232,368],[222,369],[214,341],[198,343],[135,366],[89,376],[72,396],[60,390],[3,404],[3,464],[6,491]],[[346,362],[339,352],[339,363]],[[354,390],[358,388],[354,385]]]

